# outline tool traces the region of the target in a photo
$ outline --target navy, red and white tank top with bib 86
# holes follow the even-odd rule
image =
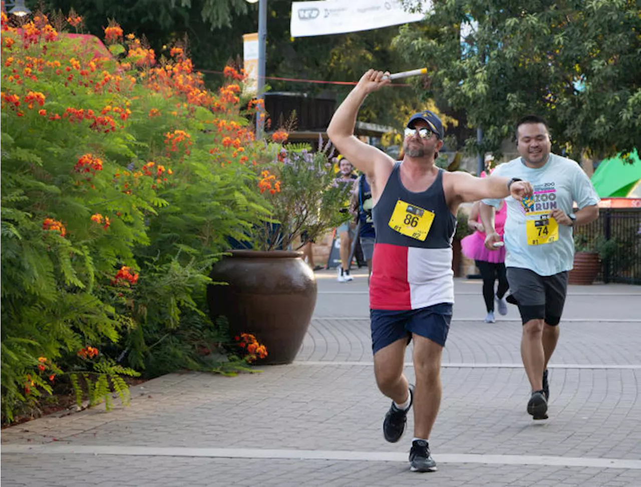
[[[376,243],[370,308],[408,310],[453,303],[456,218],[445,201],[443,169],[426,191],[412,192],[401,182],[400,167],[400,162],[394,165],[372,210]]]

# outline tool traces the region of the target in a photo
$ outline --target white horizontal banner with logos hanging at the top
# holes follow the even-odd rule
[[[401,0],[315,0],[292,2],[292,37],[340,34],[422,21],[431,10],[422,0],[422,13],[403,10]]]

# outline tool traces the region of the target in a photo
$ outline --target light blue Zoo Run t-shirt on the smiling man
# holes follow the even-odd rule
[[[540,276],[572,269],[574,239],[571,226],[558,225],[558,237],[554,236],[554,241],[541,243],[547,235],[542,235],[542,239],[533,237],[540,230],[545,234],[550,230],[550,235],[554,234],[554,225],[545,226],[546,222],[541,221],[547,219],[551,210],[559,208],[570,214],[574,201],[579,209],[599,203],[599,196],[581,166],[574,160],[550,154],[545,166],[535,169],[526,166],[519,157],[497,166],[492,176],[520,178],[534,187],[533,197],[523,203],[512,196],[505,199],[508,205],[503,235],[506,267],[530,269]],[[501,200],[483,200],[483,203],[498,207]]]

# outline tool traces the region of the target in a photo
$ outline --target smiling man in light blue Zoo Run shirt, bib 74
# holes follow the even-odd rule
[[[523,117],[516,135],[520,157],[498,166],[492,176],[527,180],[534,187],[534,194],[522,202],[506,198],[503,239],[512,302],[519,306],[523,322],[521,357],[532,387],[528,413],[540,420],[547,419],[547,363],[558,341],[568,271],[574,260],[572,228],[599,217],[599,196],[579,164],[550,152],[544,119]],[[494,207],[500,201],[483,200],[481,205],[481,220],[487,229],[485,246],[490,250],[501,241],[494,231]]]

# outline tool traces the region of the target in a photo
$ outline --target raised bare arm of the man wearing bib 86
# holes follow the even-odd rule
[[[358,109],[368,94],[381,87],[390,84],[389,78],[383,78],[383,71],[374,71],[370,69],[363,74],[358,84],[347,95],[343,103],[334,112],[331,122],[327,128],[329,140],[344,155],[354,167],[363,171],[370,178],[375,178],[374,168],[380,162],[393,162],[387,154],[378,150],[374,146],[359,141],[354,136],[354,126],[356,125],[356,115]],[[389,73],[387,73],[389,74]]]

